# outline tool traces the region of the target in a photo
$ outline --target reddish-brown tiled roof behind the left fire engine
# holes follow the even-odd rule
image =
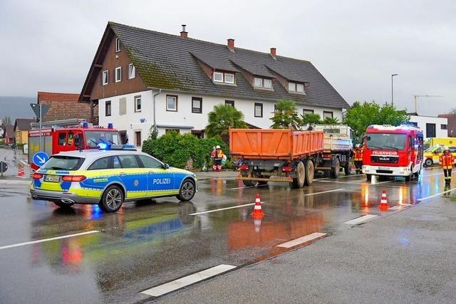
[[[90,105],[79,103],[79,94],[38,92],[38,103],[51,105],[43,122],[51,120],[65,120],[69,118],[82,118],[90,120]]]

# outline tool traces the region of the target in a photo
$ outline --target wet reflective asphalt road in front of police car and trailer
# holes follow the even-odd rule
[[[455,188],[456,183],[451,185]],[[366,182],[363,175],[319,179],[311,187],[244,187],[234,179],[199,181],[192,202],[175,198],[125,204],[116,214],[97,206],[59,209],[33,201],[25,185],[0,184],[1,303],[135,303],[142,290],[219,264],[243,266],[277,255],[275,246],[314,232],[334,234],[345,221],[380,211],[382,189],[390,206],[417,204],[445,191],[438,169],[419,180]],[[446,188],[447,189],[447,188]],[[324,193],[320,193],[324,192]],[[250,216],[261,194],[266,214]],[[92,234],[2,248],[68,234]]]

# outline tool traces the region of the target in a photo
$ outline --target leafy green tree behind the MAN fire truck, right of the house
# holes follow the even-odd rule
[[[380,106],[375,101],[356,101],[347,110],[343,123],[352,128],[356,142],[361,142],[361,137],[369,125],[400,125],[409,119],[410,115],[407,115],[405,110],[396,110],[394,105]]]

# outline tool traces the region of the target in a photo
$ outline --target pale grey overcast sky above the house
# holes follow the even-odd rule
[[[0,95],[80,93],[108,21],[309,60],[348,103],[456,108],[456,1],[0,0]]]

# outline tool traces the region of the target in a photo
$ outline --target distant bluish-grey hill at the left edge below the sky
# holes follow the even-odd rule
[[[36,97],[0,96],[0,119],[9,116],[14,124],[16,118],[35,117],[35,113],[30,107],[31,103],[36,103]]]

